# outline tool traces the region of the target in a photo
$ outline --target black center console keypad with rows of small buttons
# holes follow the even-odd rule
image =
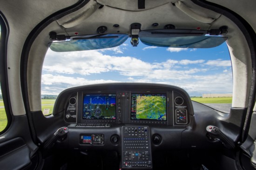
[[[122,126],[122,168],[152,169],[148,126]]]

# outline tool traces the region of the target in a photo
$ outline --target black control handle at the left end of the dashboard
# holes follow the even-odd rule
[[[50,149],[59,139],[64,140],[64,137],[68,132],[69,130],[67,127],[61,127],[60,129],[58,129],[54,133],[54,135],[46,141],[46,143],[44,144],[44,149]]]

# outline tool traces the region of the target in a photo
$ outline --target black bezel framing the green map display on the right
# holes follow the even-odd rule
[[[157,119],[137,119],[137,118],[132,118],[132,96],[135,95],[135,94],[140,94],[140,95],[157,95],[157,94],[160,94],[160,95],[165,95],[165,114],[166,114],[166,119],[165,120],[157,120]],[[166,92],[131,92],[130,94],[130,121],[157,121],[157,122],[167,122],[168,121],[168,94]]]

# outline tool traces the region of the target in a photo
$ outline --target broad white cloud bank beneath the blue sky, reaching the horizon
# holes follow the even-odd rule
[[[187,90],[189,94],[204,91],[232,92],[231,69],[227,68],[224,73],[212,75],[208,72],[212,68],[204,67],[204,65],[216,64],[230,66],[226,60],[221,59],[208,61],[168,59],[163,62],[148,63],[130,56],[104,55],[96,50],[72,53],[49,50],[43,66],[43,72],[46,74],[42,75],[42,94],[58,94],[71,86],[119,81],[177,85]],[[98,73],[105,72],[114,76],[97,78]]]

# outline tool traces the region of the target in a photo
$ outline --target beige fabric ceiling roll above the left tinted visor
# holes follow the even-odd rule
[[[91,16],[99,7],[101,4],[98,4],[94,0],[90,0],[88,4],[86,4],[84,7],[79,9],[78,11],[75,11],[74,13],[70,13],[61,19],[57,20],[57,23],[60,26],[63,26],[65,28],[71,28],[73,26],[77,26],[81,24],[84,20],[86,20],[89,16]]]

